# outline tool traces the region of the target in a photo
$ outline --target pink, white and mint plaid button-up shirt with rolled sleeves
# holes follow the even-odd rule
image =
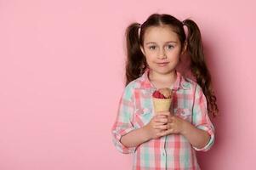
[[[120,100],[117,120],[111,132],[113,143],[122,153],[134,153],[133,169],[183,169],[198,170],[196,150],[207,151],[214,142],[214,127],[208,117],[207,100],[202,88],[194,81],[184,78],[176,71],[174,82],[173,112],[195,127],[205,130],[210,140],[199,149],[181,134],[170,134],[159,139],[151,139],[136,147],[126,147],[120,139],[130,131],[145,126],[154,116],[152,93],[156,90],[148,78],[149,70],[130,82]]]

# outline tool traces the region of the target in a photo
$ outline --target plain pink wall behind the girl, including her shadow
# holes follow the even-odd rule
[[[202,169],[255,169],[255,4],[0,0],[0,169],[131,169],[111,143],[124,30],[152,13],[196,20],[221,116]]]

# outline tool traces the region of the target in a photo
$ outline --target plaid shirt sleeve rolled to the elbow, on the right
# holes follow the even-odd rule
[[[202,148],[193,148],[197,151],[208,151],[211,149],[215,139],[215,130],[213,127],[213,123],[210,121],[208,116],[208,108],[207,108],[207,99],[202,92],[202,88],[199,85],[196,85],[196,94],[195,94],[195,103],[193,107],[193,116],[192,123],[195,127],[202,129],[208,132],[210,139],[208,144],[206,144]]]

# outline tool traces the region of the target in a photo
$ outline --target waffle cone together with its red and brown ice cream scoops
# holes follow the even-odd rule
[[[161,88],[153,94],[153,105],[155,113],[159,111],[169,111],[172,104],[172,90]]]

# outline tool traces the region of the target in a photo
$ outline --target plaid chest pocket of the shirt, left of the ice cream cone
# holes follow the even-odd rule
[[[144,127],[151,121],[152,110],[148,108],[139,108],[135,111],[134,115],[134,127]]]

